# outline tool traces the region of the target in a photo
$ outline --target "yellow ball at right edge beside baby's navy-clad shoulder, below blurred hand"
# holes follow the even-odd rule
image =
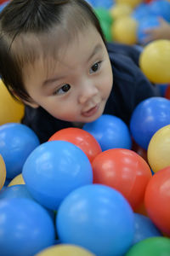
[[[170,83],[170,40],[156,40],[144,47],[139,66],[145,76],[156,84]]]

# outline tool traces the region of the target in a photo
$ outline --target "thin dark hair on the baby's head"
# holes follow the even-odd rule
[[[43,39],[53,37],[54,28],[71,38],[77,31],[92,24],[105,38],[93,9],[84,0],[13,0],[0,14],[0,76],[12,96],[31,102],[23,83],[23,66],[39,56],[37,45],[30,44],[33,35],[42,44],[43,54],[53,51]],[[44,37],[45,36],[45,37]],[[56,46],[55,46],[56,49]],[[54,53],[54,52],[53,52]]]

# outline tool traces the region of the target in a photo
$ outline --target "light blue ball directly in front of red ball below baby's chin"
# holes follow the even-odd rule
[[[93,182],[87,155],[64,141],[37,147],[27,158],[22,175],[33,198],[53,210],[72,190]]]

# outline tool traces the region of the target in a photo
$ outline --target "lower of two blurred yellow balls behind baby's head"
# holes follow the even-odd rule
[[[114,41],[122,44],[137,43],[137,21],[130,16],[123,16],[113,22],[111,34]]]

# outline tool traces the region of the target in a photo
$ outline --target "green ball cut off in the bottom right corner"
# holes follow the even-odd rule
[[[125,256],[169,256],[170,239],[167,237],[157,236],[150,237],[139,241]]]

